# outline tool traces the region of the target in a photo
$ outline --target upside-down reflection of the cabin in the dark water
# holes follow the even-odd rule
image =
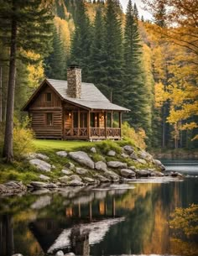
[[[124,220],[116,216],[114,196],[111,201],[96,201],[94,206],[90,196],[83,197],[76,199],[73,206],[65,207],[65,220],[61,222],[42,218],[29,223],[44,253],[61,249],[64,253],[72,251],[77,255],[89,255],[89,245],[100,243],[112,225]]]

